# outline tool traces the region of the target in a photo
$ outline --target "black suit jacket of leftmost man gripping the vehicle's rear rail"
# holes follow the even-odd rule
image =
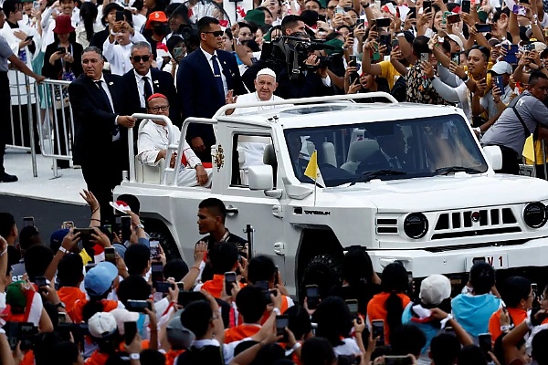
[[[115,163],[121,166],[127,162],[127,153],[119,156],[114,153],[112,129],[117,115],[122,115],[123,89],[121,77],[103,73],[105,82],[111,91],[111,107],[106,104],[91,78],[85,74],[72,81],[68,86],[70,105],[74,114],[74,163]],[[127,146],[127,129],[120,127],[122,146]],[[127,147],[125,149],[127,151]]]

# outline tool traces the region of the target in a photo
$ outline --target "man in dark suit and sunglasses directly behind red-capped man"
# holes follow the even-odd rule
[[[123,80],[124,97],[126,101],[125,113],[146,112],[146,100],[151,95],[160,93],[170,101],[169,118],[172,123],[180,126],[180,111],[177,108],[177,92],[175,90],[174,78],[168,72],[153,65],[153,52],[148,42],[136,42],[132,46],[130,60],[133,69],[128,71],[121,78]],[[135,138],[137,133],[134,133]]]

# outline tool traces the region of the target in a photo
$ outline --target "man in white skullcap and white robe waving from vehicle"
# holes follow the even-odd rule
[[[251,92],[249,94],[239,95],[239,96],[233,96],[232,91],[228,91],[227,94],[227,104],[248,104],[252,102],[258,102],[258,101],[277,101],[277,100],[283,100],[277,96],[274,95],[274,91],[276,91],[276,88],[278,88],[278,82],[276,82],[276,73],[272,71],[270,68],[263,68],[260,71],[258,71],[257,78],[255,78],[254,81],[255,84],[255,92]],[[287,106],[284,105],[284,106]],[[271,110],[280,108],[278,105],[265,105],[257,106],[257,107],[250,107],[250,108],[236,108],[236,109],[229,109],[227,110],[227,115],[236,115],[236,114],[243,114],[243,113],[252,113],[257,112],[260,110]]]

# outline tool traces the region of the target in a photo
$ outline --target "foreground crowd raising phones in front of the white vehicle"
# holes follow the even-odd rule
[[[415,287],[400,262],[377,274],[354,246],[339,284],[308,286],[298,301],[284,286],[290,273],[249,255],[216,198],[199,203],[204,237],[184,261],[146,233],[135,196],[113,204],[120,224],[101,224],[98,200],[81,195],[90,228],[64,222],[49,244],[0,213],[4,365],[548,364],[548,287],[497,282],[485,261],[451,297],[447,276]]]

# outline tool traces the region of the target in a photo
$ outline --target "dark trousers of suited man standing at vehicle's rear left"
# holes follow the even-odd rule
[[[127,152],[123,152],[121,141],[113,142],[112,145],[109,160],[97,158],[81,163],[82,175],[88,190],[100,203],[100,219],[103,224],[114,224],[114,214],[110,204],[112,190],[121,183],[121,159],[127,159]]]

